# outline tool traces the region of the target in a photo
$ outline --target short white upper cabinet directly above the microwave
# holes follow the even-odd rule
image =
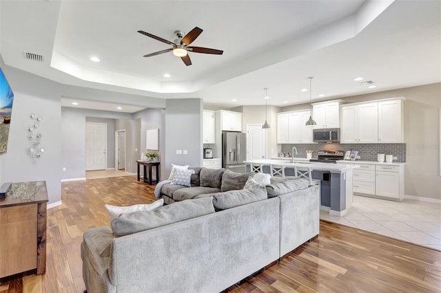
[[[329,102],[316,102],[312,104],[314,120],[317,125],[314,128],[338,128],[340,127],[340,104],[342,100]]]

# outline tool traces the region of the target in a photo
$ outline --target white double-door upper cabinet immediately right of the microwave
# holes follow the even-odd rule
[[[341,143],[378,142],[378,102],[341,107]]]

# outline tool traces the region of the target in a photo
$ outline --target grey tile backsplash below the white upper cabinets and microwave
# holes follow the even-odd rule
[[[363,161],[376,161],[378,153],[393,155],[397,160],[393,162],[406,162],[406,144],[340,144],[337,142],[316,143],[316,144],[281,144],[282,153],[291,153],[293,146],[296,146],[298,155],[294,157],[305,158],[306,151],[312,150],[312,158],[317,158],[318,151],[349,151],[351,149],[358,151],[360,159]]]

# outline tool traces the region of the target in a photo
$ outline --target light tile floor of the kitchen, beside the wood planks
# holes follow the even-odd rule
[[[354,195],[346,215],[331,216],[321,210],[320,219],[441,250],[441,204]]]

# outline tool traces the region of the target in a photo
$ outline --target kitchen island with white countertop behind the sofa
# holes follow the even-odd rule
[[[329,164],[320,162],[290,162],[289,160],[249,160],[245,161],[247,171],[250,164],[262,164],[263,173],[270,173],[271,164],[285,166],[286,176],[295,176],[294,167],[310,169],[312,178],[320,182],[320,208],[330,215],[342,216],[352,204],[352,170],[354,164]]]

